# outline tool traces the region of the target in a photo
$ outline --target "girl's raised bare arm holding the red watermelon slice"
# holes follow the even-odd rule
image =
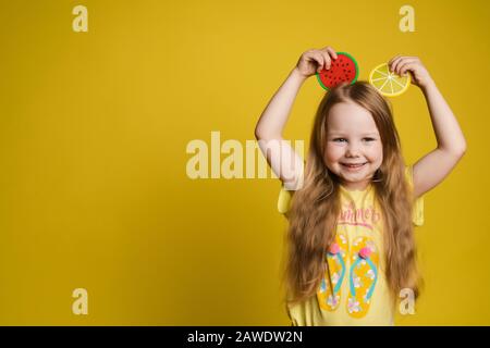
[[[272,172],[282,181],[286,189],[296,189],[303,175],[303,159],[282,137],[285,124],[297,92],[303,83],[315,72],[330,69],[335,51],[326,47],[308,50],[302,54],[297,65],[267,104],[255,127],[255,137]]]

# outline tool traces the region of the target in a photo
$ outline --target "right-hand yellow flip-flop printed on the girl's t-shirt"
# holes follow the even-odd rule
[[[379,252],[372,239],[355,238],[350,261],[347,313],[353,318],[363,318],[369,310],[378,281]]]

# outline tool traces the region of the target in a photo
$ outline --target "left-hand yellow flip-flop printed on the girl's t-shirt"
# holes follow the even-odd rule
[[[335,241],[326,253],[328,268],[317,291],[320,308],[334,311],[340,303],[342,282],[347,276],[347,238],[344,234],[336,234]]]

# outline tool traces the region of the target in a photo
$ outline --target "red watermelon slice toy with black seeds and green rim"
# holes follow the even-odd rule
[[[329,90],[344,82],[354,84],[359,75],[357,62],[348,53],[336,52],[336,60],[332,60],[330,69],[323,69],[317,73],[317,78],[321,87]]]

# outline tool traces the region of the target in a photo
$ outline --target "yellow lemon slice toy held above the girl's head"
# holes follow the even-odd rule
[[[411,86],[411,74],[400,76],[390,72],[387,63],[376,66],[369,73],[369,84],[371,84],[379,92],[385,97],[396,97],[405,92]]]

